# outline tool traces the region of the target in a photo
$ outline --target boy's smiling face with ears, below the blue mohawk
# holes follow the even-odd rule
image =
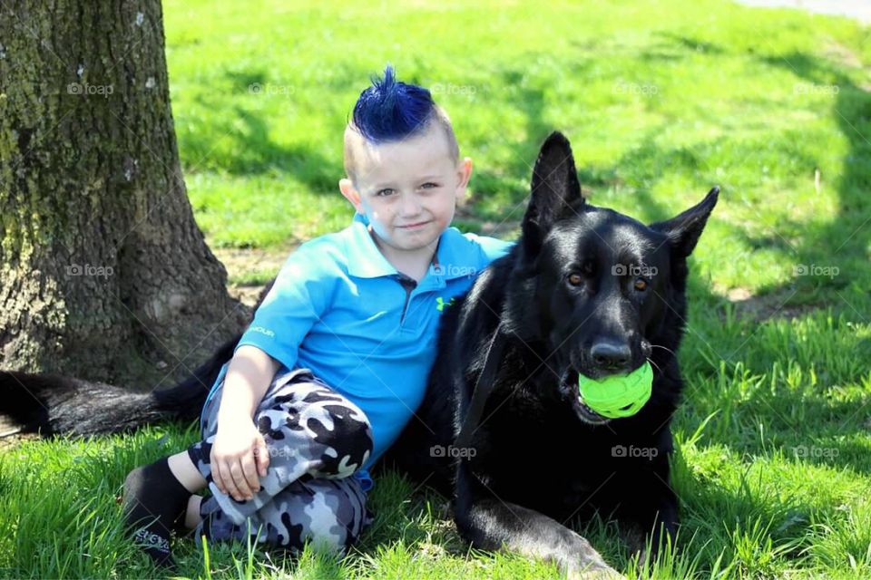
[[[373,144],[356,136],[357,179],[339,188],[358,213],[366,214],[378,241],[396,252],[435,250],[465,193],[472,161],[452,159],[445,131],[426,131],[395,142]],[[392,252],[391,252],[392,253]]]

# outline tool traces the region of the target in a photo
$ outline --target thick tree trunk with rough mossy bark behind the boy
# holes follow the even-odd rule
[[[0,365],[168,386],[250,311],[181,176],[158,0],[0,3]]]

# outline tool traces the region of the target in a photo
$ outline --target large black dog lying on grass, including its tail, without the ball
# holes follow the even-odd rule
[[[595,512],[615,517],[628,536],[652,531],[654,546],[662,533],[673,535],[670,418],[682,388],[676,353],[686,324],[687,257],[718,191],[645,226],[584,201],[568,140],[553,133],[533,170],[518,243],[443,314],[425,401],[380,463],[452,498],[457,529],[474,546],[552,559],[570,573],[609,569],[569,527]],[[505,348],[471,450],[452,449],[500,321]],[[151,395],[0,373],[0,412],[46,434],[192,419],[235,342],[187,382]],[[606,420],[581,401],[579,373],[598,378],[648,360],[653,393],[636,415]],[[84,401],[77,393],[93,404],[110,392],[112,411],[73,403]]]

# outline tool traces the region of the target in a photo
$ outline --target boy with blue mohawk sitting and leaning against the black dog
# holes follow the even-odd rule
[[[423,399],[440,314],[511,246],[449,227],[472,161],[390,66],[360,94],[344,157],[350,227],[289,256],[210,391],[202,440],[124,482],[127,527],[158,564],[171,529],[343,553],[371,521],[367,469]]]

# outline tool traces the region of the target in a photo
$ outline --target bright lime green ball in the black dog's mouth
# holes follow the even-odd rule
[[[651,398],[653,369],[650,362],[644,362],[629,374],[605,377],[601,381],[579,375],[578,388],[583,403],[602,417],[631,417]]]

